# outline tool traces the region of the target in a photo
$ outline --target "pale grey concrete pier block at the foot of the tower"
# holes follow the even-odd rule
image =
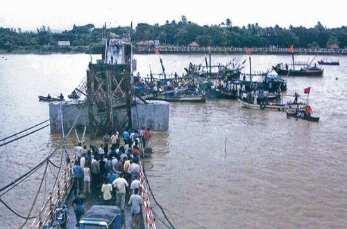
[[[85,101],[50,102],[49,118],[51,119],[51,132],[62,133],[62,123],[65,132],[69,130],[74,125],[79,109],[81,109],[81,114],[76,127],[83,129],[86,126],[87,131],[89,131],[88,110]],[[144,104],[144,102],[138,101],[137,106],[133,105],[131,107],[133,128],[139,129],[139,126],[141,126],[149,127],[152,131],[167,131],[169,130],[169,110],[169,102],[150,101],[148,104]],[[98,113],[96,107],[94,108],[94,113]],[[137,118],[137,113],[139,118]],[[102,120],[104,116],[105,113],[101,113],[96,118]],[[126,127],[126,108],[114,110],[114,122],[117,124],[117,127]],[[119,130],[123,131],[124,129]]]

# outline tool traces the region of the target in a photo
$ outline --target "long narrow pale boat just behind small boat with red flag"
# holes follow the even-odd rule
[[[292,104],[292,103],[285,103],[285,104],[278,104],[278,103],[267,103],[267,104],[253,104],[248,103],[244,100],[237,99],[239,103],[242,104],[242,107],[246,107],[249,109],[259,109],[259,110],[272,110],[272,111],[287,111],[289,110],[295,110],[297,107],[299,109],[305,108],[305,104]]]

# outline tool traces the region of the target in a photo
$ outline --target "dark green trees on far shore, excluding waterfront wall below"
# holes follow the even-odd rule
[[[325,28],[317,22],[313,28],[303,26],[282,28],[278,25],[262,28],[258,24],[248,24],[242,28],[232,26],[226,19],[218,25],[204,25],[187,21],[166,21],[165,24],[137,24],[108,28],[108,31],[122,37],[130,36],[133,42],[159,40],[160,44],[187,46],[197,42],[201,46],[219,47],[269,47],[280,48],[294,45],[296,48],[328,48],[332,44],[347,47],[347,27]],[[77,51],[101,53],[103,28],[92,24],[74,25],[71,30],[53,33],[42,26],[35,32],[22,32],[21,28],[0,28],[0,49],[6,51]],[[58,41],[70,41],[70,46],[59,47]]]

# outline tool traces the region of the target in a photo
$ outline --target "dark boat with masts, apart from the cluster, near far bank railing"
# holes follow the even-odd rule
[[[276,66],[272,66],[273,70],[276,71],[278,75],[288,75],[288,76],[322,76],[324,68],[319,68],[314,64],[311,66],[314,58],[308,64],[303,65],[300,69],[295,69],[295,66],[298,65],[294,62],[294,55],[292,54],[292,69],[288,68],[288,64],[277,64]]]

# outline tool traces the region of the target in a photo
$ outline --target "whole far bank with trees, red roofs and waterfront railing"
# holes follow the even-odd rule
[[[133,26],[107,28],[106,32],[120,37],[131,37],[134,53],[206,53],[211,46],[212,53],[244,53],[251,48],[254,54],[287,54],[287,48],[294,46],[294,53],[311,55],[346,55],[347,27],[326,28],[317,22],[313,28],[303,26],[282,28],[278,25],[262,28],[258,24],[233,26],[230,19],[218,25],[204,25],[187,21],[166,21],[165,24],[145,23]],[[93,24],[74,25],[71,30],[52,32],[42,26],[35,32],[22,32],[21,28],[0,28],[0,53],[51,54],[90,53],[101,54],[102,35],[105,28]],[[58,42],[68,42],[59,46]],[[192,44],[195,46],[192,46]],[[196,46],[197,44],[197,46]]]

